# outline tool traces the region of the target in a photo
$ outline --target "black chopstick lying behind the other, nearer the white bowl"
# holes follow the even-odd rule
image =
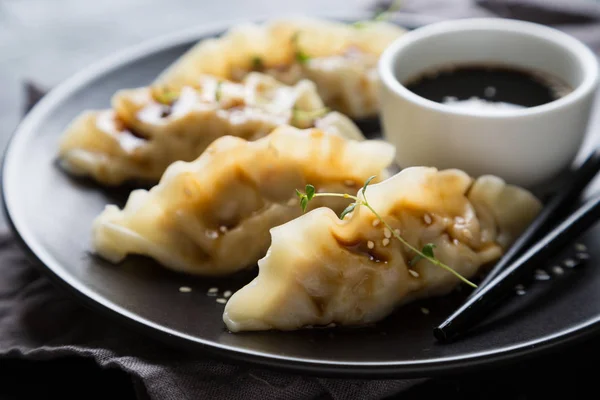
[[[565,186],[560,192],[553,196],[546,204],[540,214],[527,227],[525,232],[519,236],[515,243],[508,249],[504,256],[487,273],[479,283],[477,289],[471,296],[483,290],[495,277],[497,277],[508,265],[514,262],[523,252],[531,247],[536,240],[546,234],[561,217],[566,209],[572,207],[581,195],[588,183],[600,170],[600,151],[593,151],[587,159],[566,178]]]

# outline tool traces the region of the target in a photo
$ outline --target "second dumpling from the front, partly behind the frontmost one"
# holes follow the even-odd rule
[[[269,229],[301,214],[297,187],[355,191],[371,175],[386,176],[395,149],[378,140],[355,141],[315,128],[289,126],[254,142],[226,136],[195,161],[177,161],[160,183],[130,194],[93,223],[93,248],[114,263],[128,254],[167,268],[225,275],[256,265],[269,247]],[[341,211],[343,198],[314,206]]]

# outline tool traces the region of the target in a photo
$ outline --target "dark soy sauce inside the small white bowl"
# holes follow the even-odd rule
[[[536,107],[572,91],[554,76],[491,64],[432,69],[409,79],[404,86],[426,99],[461,108]]]

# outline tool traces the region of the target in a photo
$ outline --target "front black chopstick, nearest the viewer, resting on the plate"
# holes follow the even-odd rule
[[[481,291],[467,299],[465,304],[433,330],[435,338],[447,342],[465,333],[479,320],[489,315],[501,300],[514,293],[515,286],[523,278],[531,276],[536,268],[543,265],[548,258],[557,255],[573,238],[592,226],[599,217],[600,195],[597,195],[579,207]]]

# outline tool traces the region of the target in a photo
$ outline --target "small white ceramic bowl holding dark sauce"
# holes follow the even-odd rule
[[[463,109],[403,86],[424,70],[493,63],[549,73],[572,92],[522,109]],[[585,137],[598,62],[575,38],[546,26],[499,18],[460,19],[409,32],[379,61],[385,138],[401,167],[460,168],[534,186],[568,167]]]

